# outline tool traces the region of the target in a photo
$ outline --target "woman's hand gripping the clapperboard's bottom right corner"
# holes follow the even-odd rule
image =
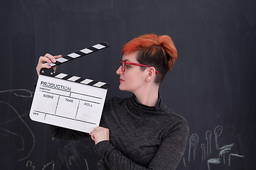
[[[94,130],[92,130],[89,135],[91,135],[92,140],[95,141],[95,145],[103,140],[110,140],[110,130],[100,126],[94,128]]]

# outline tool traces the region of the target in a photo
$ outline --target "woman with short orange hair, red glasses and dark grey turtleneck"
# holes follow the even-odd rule
[[[164,105],[159,85],[177,60],[167,35],[141,35],[124,45],[117,69],[119,89],[130,98],[105,102],[100,126],[90,132],[103,169],[176,169],[186,148],[188,123]],[[60,57],[40,57],[37,72]],[[88,135],[50,126],[53,137],[78,140]]]

